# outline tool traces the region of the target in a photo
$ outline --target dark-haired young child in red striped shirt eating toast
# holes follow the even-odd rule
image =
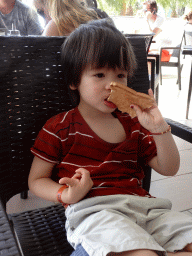
[[[79,103],[40,131],[29,188],[65,205],[73,255],[192,255],[192,218],[141,186],[143,165],[167,176],[179,169],[168,124],[157,106],[147,112],[132,106],[132,119],[107,101],[110,83],[127,85],[134,74],[128,40],[108,22],[94,21],[65,40],[62,59]]]

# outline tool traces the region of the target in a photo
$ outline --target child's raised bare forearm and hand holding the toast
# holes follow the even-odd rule
[[[152,90],[149,90],[149,94],[153,95]],[[138,106],[134,106],[134,109],[141,125],[151,133],[164,132],[169,128],[157,106],[147,112],[141,111]],[[175,175],[179,169],[180,157],[171,133],[153,135],[153,138],[157,147],[157,156],[148,164],[162,175]]]

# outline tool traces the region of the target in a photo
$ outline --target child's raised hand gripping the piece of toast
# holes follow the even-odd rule
[[[152,89],[148,90],[150,96],[154,97]],[[137,118],[140,124],[150,131],[151,133],[159,133],[163,132],[167,128],[167,123],[161,115],[157,104],[153,107],[141,110],[141,108],[137,105],[131,105],[137,114]]]

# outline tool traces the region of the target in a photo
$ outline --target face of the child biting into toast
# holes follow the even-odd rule
[[[111,82],[127,85],[127,71],[119,68],[112,69],[108,66],[98,69],[86,68],[82,72],[77,88],[80,94],[79,108],[100,113],[112,113],[116,107],[107,101],[111,91]],[[75,89],[75,87],[72,86],[71,89]]]

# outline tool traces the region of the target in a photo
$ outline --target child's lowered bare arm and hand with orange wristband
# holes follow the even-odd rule
[[[63,184],[69,185],[69,188],[63,191],[62,201],[72,204],[80,201],[92,188],[93,182],[89,171],[80,168],[72,178],[62,178],[60,184],[51,179],[54,164],[34,157],[30,174],[29,189],[37,196],[49,201],[57,202],[57,192]]]

